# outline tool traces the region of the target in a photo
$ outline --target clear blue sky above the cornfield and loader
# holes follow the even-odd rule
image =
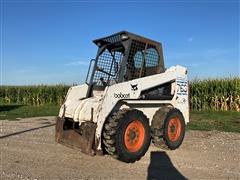
[[[1,84],[81,84],[97,47],[127,30],[162,43],[189,78],[240,76],[239,1],[0,0]]]

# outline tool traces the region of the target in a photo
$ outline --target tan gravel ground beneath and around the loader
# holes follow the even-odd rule
[[[240,179],[238,133],[188,131],[179,149],[126,164],[56,144],[54,117],[0,123],[0,179]]]

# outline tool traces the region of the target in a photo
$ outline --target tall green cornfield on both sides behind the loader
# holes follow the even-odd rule
[[[0,104],[40,106],[62,104],[69,86],[2,86]],[[240,111],[240,78],[193,80],[190,82],[192,110]]]

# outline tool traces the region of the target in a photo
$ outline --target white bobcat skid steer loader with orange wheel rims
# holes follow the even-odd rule
[[[96,39],[83,85],[68,90],[56,141],[87,154],[139,160],[151,141],[178,148],[189,121],[187,70],[165,69],[159,42],[121,31]]]

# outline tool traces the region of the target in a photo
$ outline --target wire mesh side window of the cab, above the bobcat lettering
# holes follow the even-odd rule
[[[156,74],[158,65],[159,56],[155,46],[147,44],[146,47],[144,42],[132,41],[127,63],[127,80]]]

